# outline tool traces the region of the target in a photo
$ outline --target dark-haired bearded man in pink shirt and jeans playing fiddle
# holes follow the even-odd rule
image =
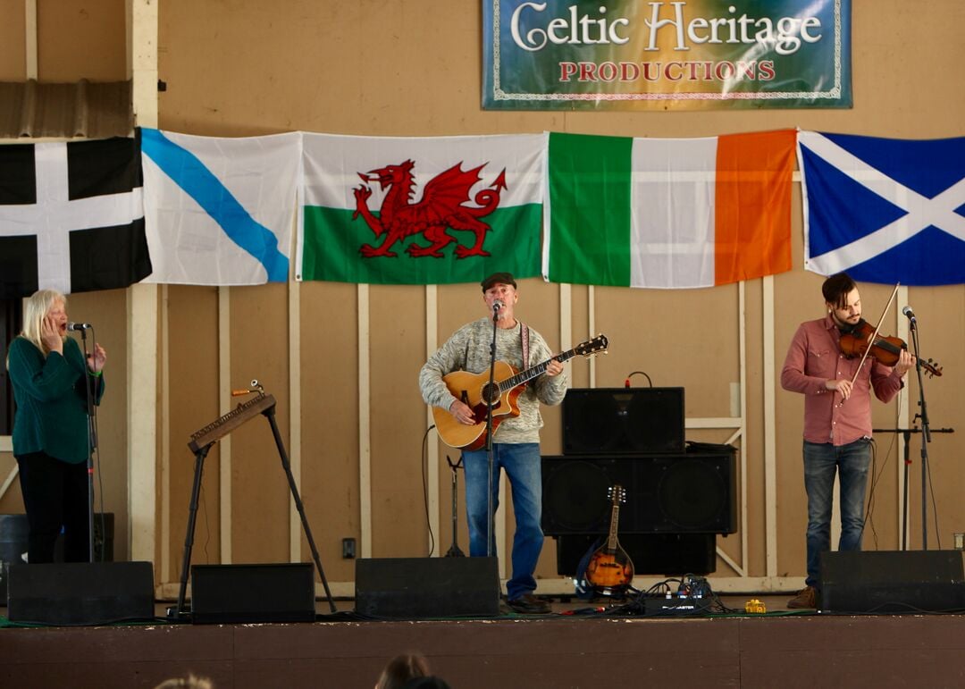
[[[781,386],[804,395],[804,485],[808,493],[808,576],[788,608],[816,608],[820,554],[831,547],[831,508],[841,482],[838,549],[861,550],[871,458],[871,390],[883,402],[904,387],[915,357],[901,349],[894,367],[868,356],[848,358],[841,336],[867,326],[858,286],[846,273],[821,286],[827,315],[801,323],[787,348]],[[860,367],[860,368],[859,368]],[[852,383],[852,380],[854,381]]]

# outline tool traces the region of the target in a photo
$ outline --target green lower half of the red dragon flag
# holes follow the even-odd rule
[[[365,221],[352,220],[352,210],[319,206],[304,207],[304,248],[302,280],[328,280],[375,285],[447,285],[479,282],[496,271],[508,271],[516,278],[539,275],[539,230],[542,205],[528,204],[496,208],[482,218],[492,230],[486,233],[483,249],[490,256],[455,256],[456,242],[471,248],[476,234],[450,228],[455,241],[441,250],[442,258],[413,258],[406,247],[427,246],[422,234],[412,234],[392,246],[394,257],[365,258],[363,244],[380,246]],[[377,217],[377,213],[374,213]]]

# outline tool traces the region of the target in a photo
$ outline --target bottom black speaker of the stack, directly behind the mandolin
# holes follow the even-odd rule
[[[567,534],[556,538],[557,574],[574,576],[580,561],[598,538]],[[635,574],[709,574],[717,569],[715,534],[623,534],[620,547],[633,563]]]

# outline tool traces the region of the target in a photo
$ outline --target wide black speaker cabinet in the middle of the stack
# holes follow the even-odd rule
[[[542,530],[604,534],[608,488],[620,483],[622,534],[732,534],[737,530],[733,452],[626,457],[542,457]]]

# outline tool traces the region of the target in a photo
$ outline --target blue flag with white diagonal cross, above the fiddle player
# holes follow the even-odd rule
[[[965,283],[965,138],[798,134],[805,267],[888,285]]]

